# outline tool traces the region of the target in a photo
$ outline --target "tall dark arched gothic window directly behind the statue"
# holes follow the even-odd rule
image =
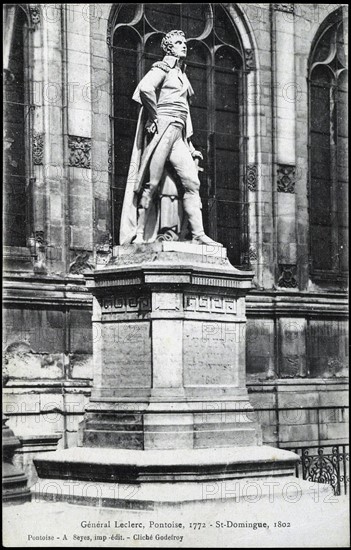
[[[161,39],[182,29],[188,40],[187,74],[195,91],[191,104],[193,143],[204,156],[200,174],[205,229],[240,265],[246,246],[243,185],[245,71],[240,37],[220,4],[122,4],[111,29],[113,68],[114,242],[135,135],[138,105],[133,91],[162,58]]]

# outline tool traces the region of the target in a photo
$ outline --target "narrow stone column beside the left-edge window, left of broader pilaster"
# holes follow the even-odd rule
[[[62,109],[62,9],[43,5],[34,41],[34,238],[45,265],[37,271],[63,272],[65,268],[65,177]]]

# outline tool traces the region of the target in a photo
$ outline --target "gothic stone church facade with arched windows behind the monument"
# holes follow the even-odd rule
[[[255,272],[247,383],[264,442],[347,443],[346,10],[6,5],[4,392],[18,460],[77,443],[99,338],[85,276],[119,244],[131,96],[172,28],[188,38],[206,230]]]

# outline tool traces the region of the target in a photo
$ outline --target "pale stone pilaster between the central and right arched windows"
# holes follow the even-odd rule
[[[277,286],[297,287],[294,5],[273,4]],[[291,273],[289,281],[287,272]]]

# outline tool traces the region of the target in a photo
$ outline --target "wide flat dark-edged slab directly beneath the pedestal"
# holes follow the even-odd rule
[[[294,476],[298,455],[268,446],[136,451],[75,447],[34,460],[40,478],[108,483]]]

